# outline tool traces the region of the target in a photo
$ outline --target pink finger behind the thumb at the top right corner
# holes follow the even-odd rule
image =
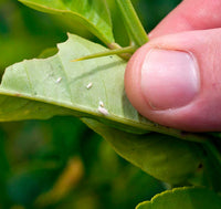
[[[149,38],[221,27],[220,0],[183,0],[150,33]]]

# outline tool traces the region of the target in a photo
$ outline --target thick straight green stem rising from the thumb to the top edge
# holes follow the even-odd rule
[[[125,27],[128,30],[130,39],[133,39],[131,41],[137,46],[141,46],[147,43],[149,39],[130,0],[116,0],[116,2],[122,11]]]

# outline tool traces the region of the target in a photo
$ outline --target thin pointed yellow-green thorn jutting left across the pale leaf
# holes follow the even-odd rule
[[[122,58],[124,58],[125,60],[128,60],[130,58],[131,53],[134,53],[136,51],[136,49],[137,48],[135,45],[131,45],[131,46],[120,48],[120,49],[116,49],[116,50],[108,50],[108,51],[82,56],[82,58],[72,60],[72,62],[90,60],[90,59],[95,59],[95,58],[102,58],[102,56],[108,56],[108,55],[114,55],[114,54],[118,54]]]

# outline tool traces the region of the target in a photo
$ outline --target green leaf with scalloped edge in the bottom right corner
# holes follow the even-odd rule
[[[139,203],[136,209],[220,209],[221,197],[204,188],[176,188]]]

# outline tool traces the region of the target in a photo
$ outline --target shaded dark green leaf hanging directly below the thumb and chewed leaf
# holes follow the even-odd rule
[[[162,181],[183,184],[199,171],[202,164],[200,146],[196,143],[156,133],[130,134],[94,119],[82,119],[122,157]]]

